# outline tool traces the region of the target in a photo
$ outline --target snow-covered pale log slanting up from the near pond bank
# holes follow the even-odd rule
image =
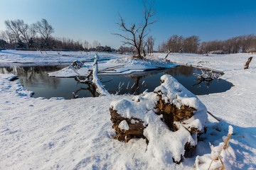
[[[99,60],[99,56],[95,54],[95,61],[93,63],[93,71],[92,71],[92,84],[94,84],[98,94],[102,96],[110,95],[107,89],[105,89],[105,86],[103,86],[103,84],[101,83],[100,79],[97,77],[97,72],[98,72],[97,60]]]

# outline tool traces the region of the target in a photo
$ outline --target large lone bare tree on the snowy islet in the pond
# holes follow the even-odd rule
[[[154,1],[143,1],[144,5],[144,24],[139,26],[136,26],[135,23],[132,23],[131,26],[126,26],[124,22],[124,18],[119,14],[120,17],[120,23],[117,23],[117,25],[120,27],[120,29],[124,33],[128,33],[129,35],[114,33],[114,35],[117,35],[121,38],[124,38],[124,45],[132,45],[137,50],[137,57],[139,59],[142,59],[142,47],[143,47],[143,40],[149,33],[146,33],[147,26],[155,23],[158,19],[155,19],[154,21],[149,21],[152,16],[155,15],[155,11],[153,10]]]

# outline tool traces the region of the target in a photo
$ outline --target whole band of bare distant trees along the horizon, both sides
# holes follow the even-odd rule
[[[134,47],[121,45],[118,50],[109,46],[101,46],[96,40],[90,44],[70,38],[54,38],[53,26],[46,19],[28,25],[23,20],[5,21],[6,30],[0,33],[0,49],[17,50],[83,50],[98,52],[134,53]],[[149,36],[142,45],[142,50],[153,52],[155,39]],[[147,49],[146,49],[147,48]],[[196,35],[183,37],[172,35],[166,42],[161,42],[158,52],[187,52],[199,54],[230,54],[238,52],[256,52],[256,36],[240,35],[228,40],[212,40],[201,42]]]

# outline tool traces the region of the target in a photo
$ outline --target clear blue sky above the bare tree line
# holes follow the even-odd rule
[[[6,29],[6,20],[23,19],[30,24],[46,18],[55,28],[55,37],[97,40],[114,48],[122,45],[122,39],[111,34],[119,31],[118,13],[126,23],[143,21],[140,0],[0,1],[0,30]],[[150,26],[150,34],[156,46],[174,34],[198,35],[205,41],[256,33],[255,0],[156,0],[154,8],[159,21]]]

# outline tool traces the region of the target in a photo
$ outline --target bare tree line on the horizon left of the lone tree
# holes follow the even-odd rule
[[[101,46],[93,41],[92,45],[75,41],[70,38],[55,38],[53,26],[46,19],[27,24],[23,20],[5,21],[6,30],[0,33],[0,48],[22,50],[85,50],[85,51],[115,51],[109,46]]]

